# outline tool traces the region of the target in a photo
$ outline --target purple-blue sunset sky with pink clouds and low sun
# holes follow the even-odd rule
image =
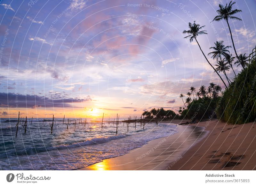
[[[190,86],[214,82],[224,90],[196,42],[182,32],[188,22],[205,26],[208,34],[198,42],[206,55],[216,41],[232,46],[227,23],[212,22],[226,3],[0,1],[0,117],[18,111],[38,118],[126,118],[161,107],[177,112],[179,94]],[[233,8],[242,10],[236,17],[243,20],[229,21],[236,50],[248,56],[256,44],[256,1],[237,0]],[[230,52],[235,56],[233,47]]]

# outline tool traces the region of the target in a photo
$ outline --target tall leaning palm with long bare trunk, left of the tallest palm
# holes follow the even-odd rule
[[[205,56],[201,46],[199,45],[196,37],[198,35],[202,35],[202,34],[207,34],[205,30],[202,30],[200,31],[204,26],[200,26],[198,24],[196,24],[196,21],[194,21],[194,23],[188,23],[188,27],[189,27],[189,30],[184,30],[183,33],[188,33],[189,35],[184,37],[184,38],[189,38],[189,41],[192,42],[193,39],[196,40],[202,54],[204,55],[206,61],[211,65],[211,67],[213,68],[213,70],[218,74],[218,76],[220,77],[220,79],[222,80],[222,82],[224,83],[224,85],[226,86],[225,82],[223,81],[223,79],[221,78],[220,74],[215,70],[215,68],[212,66],[212,64],[208,61],[207,57]],[[227,87],[227,86],[226,86]]]

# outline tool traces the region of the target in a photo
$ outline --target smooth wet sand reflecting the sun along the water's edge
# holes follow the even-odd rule
[[[182,159],[183,154],[207,134],[204,127],[177,125],[175,130],[179,132],[79,170],[164,170]]]

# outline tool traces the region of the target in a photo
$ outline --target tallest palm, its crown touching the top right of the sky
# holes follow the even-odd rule
[[[233,44],[233,48],[235,50],[235,53],[236,53],[236,48],[235,48],[235,44],[234,44],[234,41],[233,41],[233,37],[232,37],[232,33],[231,33],[231,29],[230,29],[230,26],[229,26],[229,23],[228,23],[228,19],[235,19],[235,20],[242,20],[240,18],[237,18],[234,16],[234,14],[238,13],[238,12],[241,12],[241,10],[232,10],[232,5],[233,4],[236,4],[235,2],[232,3],[232,1],[230,1],[229,4],[226,4],[226,6],[224,7],[224,5],[222,4],[219,4],[219,10],[217,10],[217,13],[218,15],[213,19],[213,21],[220,21],[222,19],[224,19],[225,21],[227,21],[227,24],[228,24],[228,29],[229,29],[229,32],[230,32],[230,36],[231,36],[231,40],[232,40],[232,44]],[[236,53],[236,57],[238,58],[238,55]]]

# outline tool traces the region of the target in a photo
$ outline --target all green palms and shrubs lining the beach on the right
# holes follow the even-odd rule
[[[206,30],[203,30],[204,26],[199,24],[188,23],[188,30],[184,30],[183,33],[188,34],[184,38],[188,38],[190,42],[196,41],[199,49],[201,50],[204,58],[212,69],[219,76],[223,82],[226,89],[221,92],[220,85],[210,83],[208,88],[201,86],[196,92],[196,88],[191,86],[187,93],[187,98],[184,94],[180,94],[179,98],[182,99],[185,108],[180,107],[179,114],[175,114],[172,110],[152,109],[151,111],[145,111],[143,115],[147,118],[179,118],[179,119],[191,119],[191,120],[202,120],[202,119],[212,119],[218,117],[221,121],[240,124],[255,121],[256,118],[256,48],[252,50],[249,56],[246,54],[237,55],[235,44],[233,41],[233,36],[231,28],[229,26],[228,20],[242,20],[235,17],[234,15],[241,10],[232,9],[232,6],[236,4],[230,1],[229,4],[219,5],[219,10],[216,12],[218,15],[213,19],[213,21],[225,20],[228,24],[233,49],[235,56],[233,57],[228,50],[231,46],[225,46],[224,41],[214,42],[214,46],[211,47],[212,51],[208,54],[212,59],[216,59],[216,64],[214,66],[209,62],[205,56],[197,37],[199,35],[207,34]],[[250,59],[251,57],[251,59]],[[238,74],[235,73],[233,68],[233,62],[238,66],[242,67],[242,71]],[[234,72],[234,78],[230,78],[227,72]],[[221,78],[220,73],[225,76],[228,86],[225,81]],[[193,100],[192,100],[192,99]],[[187,104],[187,105],[186,105]]]

